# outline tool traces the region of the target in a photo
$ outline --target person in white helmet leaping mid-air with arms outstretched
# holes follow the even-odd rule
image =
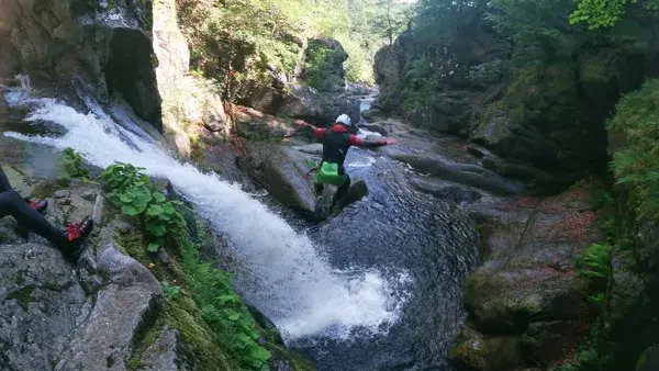
[[[350,188],[350,177],[346,173],[344,162],[351,146],[376,148],[398,144],[395,139],[368,140],[350,134],[349,128],[353,122],[347,114],[338,116],[332,128],[317,128],[302,120],[295,120],[294,123],[298,126],[311,128],[312,135],[322,139],[323,160],[316,172],[314,190],[316,196],[320,196],[323,194],[325,184],[338,187],[332,200],[332,209],[347,194]]]

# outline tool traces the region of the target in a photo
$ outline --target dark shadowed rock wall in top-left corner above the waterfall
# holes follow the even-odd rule
[[[26,71],[46,72],[66,83],[83,77],[97,82],[91,89],[98,95],[120,93],[142,119],[159,123],[147,4],[131,0],[3,1],[0,79]]]

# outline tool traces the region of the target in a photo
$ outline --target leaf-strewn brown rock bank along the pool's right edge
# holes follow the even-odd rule
[[[463,284],[471,325],[451,347],[457,364],[496,364],[498,356],[480,345],[513,341],[517,353],[505,358],[517,364],[521,352],[523,362],[492,370],[544,369],[583,341],[592,318],[590,288],[574,261],[599,238],[596,216],[584,209],[587,194],[573,189],[544,200],[488,196],[468,206],[473,212],[483,203],[492,211],[477,212],[483,263]]]

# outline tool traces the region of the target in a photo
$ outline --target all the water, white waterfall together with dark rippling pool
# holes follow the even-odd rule
[[[370,195],[297,233],[239,184],[177,161],[91,99],[81,113],[32,97],[26,81],[3,90],[11,106],[30,109],[25,127],[4,127],[5,136],[72,147],[99,167],[124,161],[168,178],[230,239],[243,267],[237,289],[320,369],[447,368],[447,345],[463,317],[460,283],[476,265],[476,236],[459,210],[412,191],[401,164],[353,150],[348,171],[367,181]]]

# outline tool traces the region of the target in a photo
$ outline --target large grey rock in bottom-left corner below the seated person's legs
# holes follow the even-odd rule
[[[0,364],[52,370],[90,306],[71,267],[42,244],[0,246]]]

